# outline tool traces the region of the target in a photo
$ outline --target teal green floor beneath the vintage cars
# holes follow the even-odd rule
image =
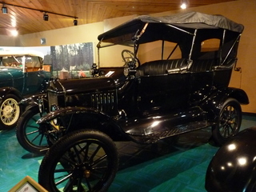
[[[255,116],[243,116],[242,130],[256,126]],[[208,143],[210,129],[162,140],[154,145],[117,142],[120,168],[110,192],[205,192],[210,159],[218,147]],[[15,130],[0,131],[0,192],[29,175],[38,181],[42,156],[19,145]]]

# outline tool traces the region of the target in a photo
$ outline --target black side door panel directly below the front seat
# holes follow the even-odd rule
[[[142,76],[139,78],[138,108],[142,114],[186,107],[189,98],[189,72]]]

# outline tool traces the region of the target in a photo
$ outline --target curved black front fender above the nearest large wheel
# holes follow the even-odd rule
[[[38,119],[37,123],[58,123],[58,120],[65,123],[66,133],[72,130],[94,129],[109,135],[114,141],[130,140],[113,118],[94,108],[69,106],[46,114]]]

